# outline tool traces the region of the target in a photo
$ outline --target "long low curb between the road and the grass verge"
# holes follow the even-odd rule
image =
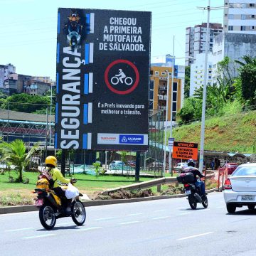
[[[206,191],[207,193],[218,192],[218,188],[212,188]],[[135,203],[142,201],[152,201],[152,200],[161,200],[161,199],[169,199],[169,198],[182,198],[186,197],[185,194],[177,194],[170,196],[150,196],[146,198],[129,198],[129,199],[114,199],[114,200],[97,200],[97,201],[83,201],[83,205],[85,207],[89,206],[105,206],[117,203]],[[29,211],[36,211],[38,208],[36,206],[10,206],[10,207],[0,207],[0,215],[7,213],[23,213]]]

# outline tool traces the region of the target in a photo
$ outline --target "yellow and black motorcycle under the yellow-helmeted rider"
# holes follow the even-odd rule
[[[79,193],[79,196],[70,200],[67,198],[60,199],[49,187],[50,183],[46,178],[39,178],[33,192],[37,193],[36,207],[39,208],[39,219],[43,227],[50,230],[54,228],[58,218],[70,216],[76,225],[85,223],[85,206],[79,200],[79,196],[82,196],[82,194]],[[68,186],[62,186],[62,188],[67,189]],[[63,206],[67,206],[68,203],[70,205],[69,211]]]

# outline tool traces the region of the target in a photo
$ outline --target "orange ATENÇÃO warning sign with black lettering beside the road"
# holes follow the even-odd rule
[[[174,142],[172,157],[175,159],[198,159],[198,144],[190,142]]]

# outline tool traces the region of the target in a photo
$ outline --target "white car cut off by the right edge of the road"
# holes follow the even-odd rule
[[[224,199],[228,213],[235,213],[237,207],[256,206],[256,163],[241,164],[224,183]]]

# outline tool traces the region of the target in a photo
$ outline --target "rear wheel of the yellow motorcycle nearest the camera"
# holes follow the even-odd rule
[[[52,206],[43,205],[39,209],[39,220],[43,228],[53,229],[56,223],[55,211]]]

